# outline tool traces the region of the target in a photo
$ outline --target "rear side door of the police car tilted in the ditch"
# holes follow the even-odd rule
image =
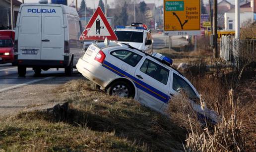
[[[170,70],[145,57],[135,71],[138,100],[155,110],[169,101]]]

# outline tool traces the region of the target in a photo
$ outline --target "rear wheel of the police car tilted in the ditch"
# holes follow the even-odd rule
[[[134,91],[130,84],[125,81],[117,81],[110,85],[107,93],[111,96],[119,96],[124,98],[134,98]]]

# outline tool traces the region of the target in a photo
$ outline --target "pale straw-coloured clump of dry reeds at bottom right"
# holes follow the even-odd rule
[[[198,132],[192,132],[186,140],[188,152],[241,152],[245,151],[245,136],[243,135],[242,120],[238,117],[239,100],[234,100],[233,90],[229,92],[230,115],[223,116],[222,121],[211,131],[207,126]],[[190,120],[190,116],[188,115]]]

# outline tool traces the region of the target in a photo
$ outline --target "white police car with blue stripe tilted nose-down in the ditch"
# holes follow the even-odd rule
[[[149,55],[127,44],[110,42],[90,45],[76,68],[109,95],[132,98],[164,112],[170,98],[182,90],[190,99],[199,98],[190,81],[171,64],[172,59],[162,54]],[[217,122],[214,111],[203,111],[199,104],[191,103],[198,113],[206,111],[206,117]]]

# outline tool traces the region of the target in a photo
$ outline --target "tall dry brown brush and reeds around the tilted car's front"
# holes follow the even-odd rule
[[[200,60],[190,63],[185,70],[187,78],[202,95],[207,107],[222,116],[222,121],[216,126],[199,127],[187,98],[173,98],[168,113],[172,121],[189,130],[186,151],[255,151],[256,77],[247,72],[237,81],[239,73],[219,61],[211,71],[201,74],[198,71],[205,64],[200,64]],[[229,92],[231,88],[235,90]]]

